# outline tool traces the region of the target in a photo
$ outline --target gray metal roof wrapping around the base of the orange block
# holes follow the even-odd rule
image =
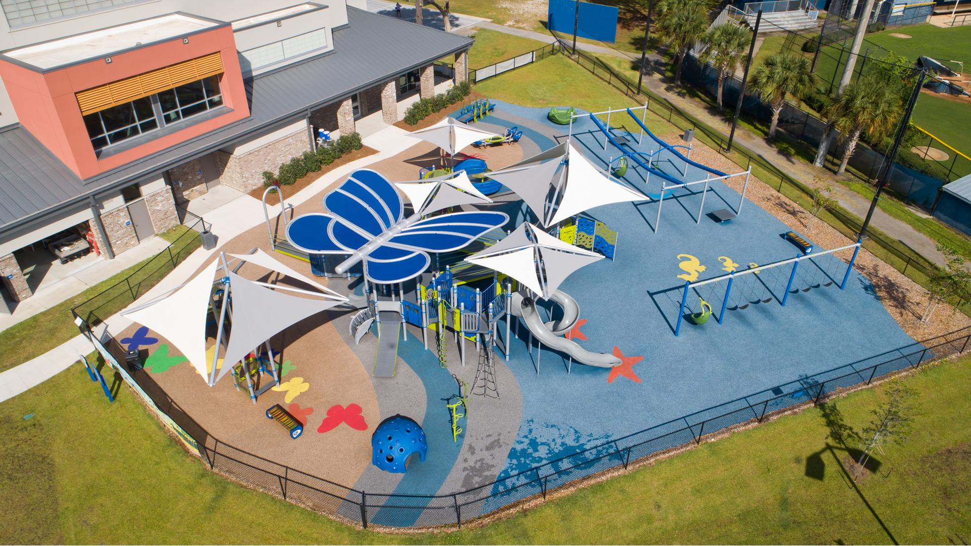
[[[472,40],[348,7],[348,24],[333,31],[334,50],[246,82],[250,118],[81,181],[23,127],[0,130],[0,233],[87,195],[143,178],[252,138],[254,131],[307,112],[468,49]]]

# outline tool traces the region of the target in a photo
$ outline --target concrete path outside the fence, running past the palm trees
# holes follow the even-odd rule
[[[551,43],[553,40],[552,36],[549,34],[503,26],[501,24],[495,24],[492,22],[482,22],[479,24],[479,26],[482,28],[488,28],[490,30],[505,32],[506,34],[511,34],[514,36],[539,40],[545,43]],[[640,59],[640,55],[637,53],[619,51],[614,48],[587,44],[580,41],[577,42],[577,49],[590,53],[608,54],[627,58],[632,61]],[[648,54],[648,65],[651,72],[650,74],[645,75],[644,84],[655,94],[667,99],[671,102],[671,104],[674,104],[676,107],[680,108],[682,111],[691,115],[695,119],[699,119],[709,126],[719,130],[722,136],[727,139],[728,132],[731,130],[731,125],[723,119],[720,113],[714,112],[714,109],[709,108],[708,105],[701,104],[694,99],[688,98],[686,93],[680,88],[662,80],[664,73],[663,64],[665,62],[665,59],[656,52]],[[852,189],[840,184],[832,172],[815,167],[797,157],[783,154],[774,146],[767,143],[764,138],[753,134],[743,127],[736,129],[735,142],[738,142],[742,146],[748,148],[759,157],[778,167],[788,176],[804,184],[812,187],[822,188],[826,187],[827,185],[832,186],[833,197],[839,201],[840,205],[860,219],[866,217],[866,213],[870,208],[870,199],[867,199]],[[772,181],[765,182],[772,184]],[[921,256],[924,256],[938,264],[944,263],[944,256],[937,252],[936,244],[934,243],[933,239],[922,234],[920,231],[914,229],[907,223],[891,217],[879,208],[874,211],[871,224],[884,233],[887,233],[887,236],[903,243],[907,247],[910,247]]]

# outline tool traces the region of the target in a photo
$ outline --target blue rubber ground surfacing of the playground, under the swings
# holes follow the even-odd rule
[[[500,102],[495,105],[492,115],[477,127],[501,132],[505,127],[517,125],[523,133],[522,141],[532,143],[533,148],[539,150],[565,140],[567,127],[550,122],[547,119],[549,109]],[[626,113],[614,116],[617,117],[615,122],[635,125],[628,122]],[[615,130],[613,135],[626,137],[640,152],[657,149],[646,135],[640,145],[637,144],[637,133],[630,135]],[[608,144],[605,151],[603,143],[603,133],[592,122],[588,119],[574,121],[573,145],[600,167],[606,166],[610,157],[617,158],[621,154],[612,144]],[[668,152],[660,154],[654,162],[655,168],[677,179],[683,177],[679,169],[684,165],[684,161]],[[499,169],[503,165],[490,167]],[[624,178],[642,192],[660,192],[659,179],[652,176],[650,183],[645,183],[642,169],[634,163]],[[687,181],[704,179],[705,173],[688,166],[685,178]],[[835,261],[824,265],[820,261],[820,271],[815,274],[806,265],[808,260],[801,264],[800,267],[805,265],[807,271],[796,278],[794,286],[797,290],[789,293],[785,307],[779,302],[785,292],[785,283],[782,287],[778,286],[778,281],[772,285],[768,275],[763,273],[765,284],[771,286],[760,295],[770,301],[753,303],[744,309],[741,306],[727,309],[722,324],[718,324],[717,317],[703,325],[685,322],[680,334],[675,336],[685,284],[678,275],[686,273],[686,269],[679,266],[683,261],[679,255],[695,256],[706,267],[698,279],[707,279],[724,273],[724,261],[720,259],[723,256],[741,264],[739,269],[745,269],[751,262],[766,264],[801,254],[782,236],[791,228],[752,202],[747,201],[742,213],[731,222],[715,222],[709,217],[714,211],[734,211],[738,207],[739,193],[721,182],[711,184],[700,222],[696,222],[701,203],[700,189],[701,186],[693,187],[694,192],[675,189],[670,197],[666,196],[656,233],[653,232],[656,201],[608,205],[587,212],[589,218],[618,232],[617,254],[613,260],[601,259],[580,269],[560,286],[560,290],[576,298],[580,304],[580,317],[586,320],[580,327],[586,341],[578,343],[587,350],[603,353],[615,353],[617,348],[615,354],[631,358],[626,361],[634,363],[618,372],[573,362],[568,374],[565,356],[535,348],[530,353],[525,343],[526,330],[520,328],[522,339],[511,341],[511,357],[505,363],[518,385],[515,388],[498,385],[499,392],[505,396],[521,395],[521,413],[503,416],[503,419],[518,423],[518,432],[515,439],[489,440],[501,442],[498,449],[508,452],[505,464],[493,473],[491,479],[515,475],[639,430],[790,382],[803,380],[809,389],[816,384],[810,378],[818,374],[848,363],[865,367],[892,358],[888,349],[913,347],[914,340],[887,314],[869,281],[854,271],[846,290],[839,290],[846,266],[844,263],[840,268]],[[519,205],[492,210],[501,210],[511,217],[509,229],[524,219],[533,220],[529,218],[528,210]],[[787,279],[791,267],[778,269]],[[835,282],[831,282],[833,278]],[[810,285],[819,288],[798,290]],[[720,284],[720,290],[724,290],[723,284]],[[752,287],[749,290],[753,290]],[[715,307],[716,316],[720,315],[718,294],[709,297],[711,299],[706,297],[706,300]],[[694,305],[697,310],[697,295],[691,294],[687,299],[689,306]],[[417,329],[410,331],[417,332]],[[505,335],[505,325],[499,332],[501,336]],[[452,445],[451,433],[442,424],[440,399],[454,390],[454,383],[446,370],[438,368],[434,352],[422,349],[420,335],[410,334],[408,341],[401,342],[400,356],[404,364],[416,371],[426,390],[427,423],[422,427],[429,434],[429,450],[428,460],[416,467],[418,471],[415,473],[409,470],[393,493],[452,494],[461,491],[461,487],[446,485],[446,480],[462,467],[462,461],[475,460],[473,454],[476,449],[485,448],[485,440],[475,438],[473,434],[466,436],[464,443]],[[473,350],[467,365],[475,366],[477,357]],[[643,359],[635,361],[637,357]],[[859,381],[865,380],[861,377]],[[791,386],[785,389],[786,392],[795,390]],[[760,401],[771,396],[756,398]],[[806,399],[807,396],[794,396],[791,403]],[[470,413],[474,414],[477,408],[489,403],[489,398],[472,396]],[[746,419],[751,416],[738,421]],[[513,429],[515,427],[514,423]],[[474,432],[470,430],[470,433]],[[613,461],[608,465],[620,462]],[[553,464],[552,468],[544,470],[544,474],[551,473],[555,467]],[[481,483],[480,477],[475,485]],[[499,493],[504,487],[496,486],[493,493]],[[535,488],[525,488],[477,504],[475,509],[485,513],[534,493],[537,493]],[[463,518],[473,515],[463,509]],[[396,520],[392,523],[403,524],[407,522]]]

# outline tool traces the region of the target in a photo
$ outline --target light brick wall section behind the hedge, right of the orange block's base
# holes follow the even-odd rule
[[[225,186],[240,191],[262,188],[263,171],[276,173],[280,170],[281,163],[308,150],[310,150],[310,141],[307,130],[300,129],[246,154],[231,155],[218,152],[216,165],[220,173],[219,180]]]

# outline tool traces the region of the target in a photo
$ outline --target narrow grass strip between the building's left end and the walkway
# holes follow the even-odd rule
[[[177,225],[165,233],[160,233],[159,236],[171,243],[187,229],[183,225]],[[189,242],[188,239],[184,239],[184,241]],[[193,241],[192,244],[198,246],[199,239],[196,237]],[[102,291],[115,286],[118,282],[123,281],[149,260],[151,260],[151,257],[128,267],[124,271],[113,275],[77,295],[65,299],[42,313],[38,313],[25,321],[21,321],[0,331],[0,348],[3,349],[3,357],[0,358],[0,371],[22,364],[31,358],[40,357],[54,347],[78,335],[80,332],[78,331],[77,324],[74,324],[71,309]],[[147,289],[143,288],[143,290]]]

